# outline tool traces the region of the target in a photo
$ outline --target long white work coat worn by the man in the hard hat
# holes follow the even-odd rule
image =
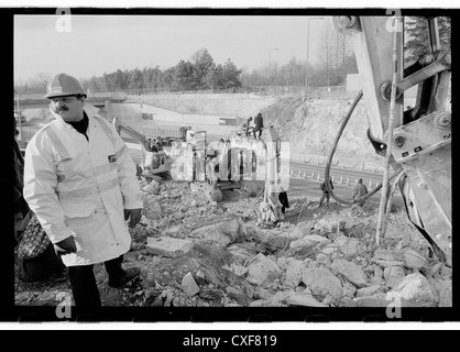
[[[85,105],[87,135],[59,116],[25,151],[24,198],[53,243],[74,235],[67,266],[101,263],[129,251],[124,209],[142,208],[135,165],[114,128]]]

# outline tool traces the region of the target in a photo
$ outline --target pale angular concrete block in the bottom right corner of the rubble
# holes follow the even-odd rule
[[[416,302],[417,306],[434,307],[438,302],[436,290],[419,273],[407,275],[391,293]]]

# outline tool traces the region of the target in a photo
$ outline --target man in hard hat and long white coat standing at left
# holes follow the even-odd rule
[[[141,220],[143,207],[134,162],[112,124],[85,102],[76,78],[56,75],[45,97],[55,119],[26,147],[24,198],[68,268],[75,305],[99,307],[94,264],[105,263],[114,288],[140,274],[121,266],[128,226]]]

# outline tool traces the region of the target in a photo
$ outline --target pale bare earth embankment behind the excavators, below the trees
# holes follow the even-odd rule
[[[291,156],[328,156],[340,122],[352,99],[310,99],[302,97],[251,97],[250,95],[146,96],[145,103],[182,113],[233,116],[239,122],[261,112],[264,124],[273,124],[283,142],[291,143]],[[336,150],[336,158],[380,162],[366,136],[368,111],[360,102]]]

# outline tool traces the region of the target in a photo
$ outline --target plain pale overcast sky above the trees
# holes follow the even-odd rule
[[[65,22],[64,19],[67,19]],[[252,70],[294,56],[307,57],[306,16],[238,15],[17,15],[14,80],[65,72],[79,78],[118,68],[175,66],[206,47],[216,64],[230,58]],[[309,61],[315,63],[322,26],[310,22]],[[61,32],[56,29],[61,29]],[[69,29],[70,32],[64,32]],[[274,48],[277,48],[274,50]]]

